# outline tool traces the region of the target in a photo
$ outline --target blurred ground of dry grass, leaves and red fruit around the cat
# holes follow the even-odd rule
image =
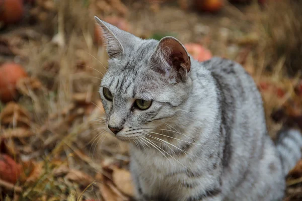
[[[0,200],[132,200],[128,146],[102,119],[95,15],[141,38],[174,36],[199,61],[239,62],[270,136],[302,129],[302,1],[0,0]],[[302,200],[302,161],[286,179],[284,200]]]

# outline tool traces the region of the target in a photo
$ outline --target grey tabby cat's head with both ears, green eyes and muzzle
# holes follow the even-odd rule
[[[188,98],[190,57],[173,37],[142,40],[95,19],[109,56],[100,87],[106,124],[121,140],[152,135]]]

